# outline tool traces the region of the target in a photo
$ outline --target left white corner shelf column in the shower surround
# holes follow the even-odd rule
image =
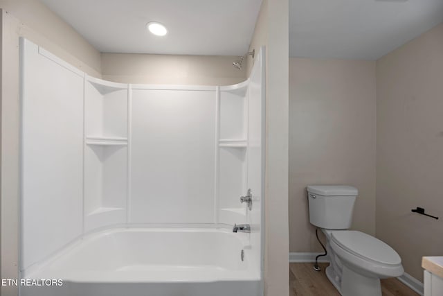
[[[129,85],[85,76],[84,229],[124,223]]]

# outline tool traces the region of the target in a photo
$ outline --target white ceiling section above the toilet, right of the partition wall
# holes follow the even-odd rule
[[[443,21],[443,0],[289,0],[289,55],[376,60]]]

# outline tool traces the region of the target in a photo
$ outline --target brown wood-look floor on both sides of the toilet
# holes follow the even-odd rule
[[[327,279],[325,269],[329,263],[320,263],[321,272],[313,269],[313,263],[289,264],[290,296],[340,296]],[[383,296],[417,296],[413,290],[398,279],[382,279]]]

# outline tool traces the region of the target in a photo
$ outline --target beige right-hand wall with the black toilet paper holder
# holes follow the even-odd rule
[[[443,24],[377,61],[377,237],[422,280],[443,254]],[[434,220],[411,213],[424,207]]]

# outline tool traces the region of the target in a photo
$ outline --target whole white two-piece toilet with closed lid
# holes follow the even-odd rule
[[[363,232],[347,230],[359,191],[352,186],[307,186],[309,221],[327,238],[329,281],[343,296],[381,296],[380,279],[403,275],[392,247]]]

